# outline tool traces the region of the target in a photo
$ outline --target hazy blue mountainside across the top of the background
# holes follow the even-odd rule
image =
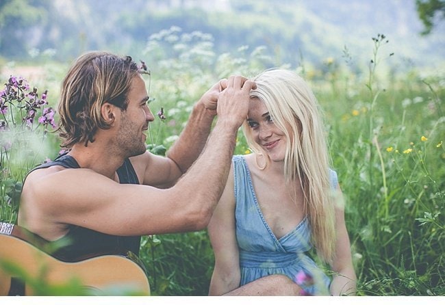
[[[382,55],[394,52],[391,61],[398,67],[410,64],[435,67],[445,61],[445,24],[442,21],[429,36],[420,36],[423,27],[415,0],[39,0],[29,3],[41,5],[40,10],[32,14],[35,21],[29,31],[16,26],[14,18],[6,19],[10,25],[0,24],[3,57],[21,57],[23,49],[33,48],[54,49],[54,57],[60,60],[71,59],[88,49],[140,53],[152,34],[178,26],[184,33],[212,34],[218,52],[235,50],[242,45],[251,48],[264,45],[282,62],[292,64],[303,58],[320,65],[328,57],[341,58],[346,47],[352,64],[359,66],[372,57],[371,38],[377,34],[385,34],[389,40],[381,50]],[[22,51],[20,43],[26,43]]]

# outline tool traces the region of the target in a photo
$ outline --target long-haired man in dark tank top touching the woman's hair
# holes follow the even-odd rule
[[[154,118],[136,63],[105,52],[81,55],[62,83],[58,106],[69,152],[28,174],[18,224],[49,241],[69,238],[55,253],[66,261],[115,250],[138,254],[140,235],[206,228],[252,88],[255,83],[240,76],[216,83],[160,157],[146,150],[144,131]],[[270,295],[276,287],[290,289],[279,294],[298,291],[273,277],[232,293]]]

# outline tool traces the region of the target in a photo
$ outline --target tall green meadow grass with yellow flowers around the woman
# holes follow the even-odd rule
[[[147,144],[168,148],[192,104],[220,77],[270,66],[296,70],[325,111],[333,168],[346,198],[357,294],[445,295],[445,75],[413,68],[387,77],[379,69],[392,51],[379,35],[370,39],[368,70],[348,66],[344,56],[309,69],[304,62],[274,62],[263,48],[216,54],[207,34],[162,31],[141,55],[152,63],[151,108],[163,107],[166,115],[151,124]],[[247,151],[239,133],[235,153]],[[207,295],[214,256],[205,230],[144,237],[140,256],[154,295]]]

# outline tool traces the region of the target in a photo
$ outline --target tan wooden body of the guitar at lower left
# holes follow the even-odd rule
[[[40,280],[49,285],[78,281],[81,287],[90,289],[88,293],[97,291],[99,295],[106,295],[115,289],[118,293],[132,291],[138,295],[150,295],[149,280],[144,269],[129,256],[103,255],[66,263],[21,238],[0,234],[0,263],[0,295],[8,295],[11,278],[17,276],[8,274],[1,267],[8,263],[25,271],[28,280]],[[25,295],[36,295],[26,280]]]

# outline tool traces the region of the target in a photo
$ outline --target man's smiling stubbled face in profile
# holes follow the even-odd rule
[[[128,157],[133,157],[147,150],[145,145],[147,135],[144,131],[147,131],[149,122],[155,119],[147,105],[149,96],[145,83],[139,75],[133,77],[127,98],[128,107],[125,111],[121,111],[117,142]]]

